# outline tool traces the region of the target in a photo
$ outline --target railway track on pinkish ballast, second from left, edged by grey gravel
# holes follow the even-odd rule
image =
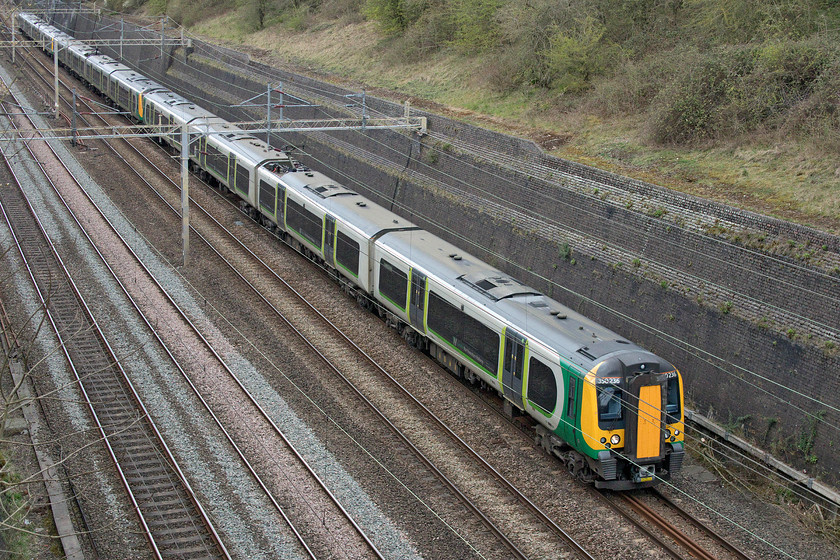
[[[66,100],[64,100],[64,101],[66,102]],[[116,153],[116,151],[114,153]],[[123,160],[123,161],[125,161],[125,160]],[[125,163],[128,165],[128,162],[125,162]],[[135,173],[137,173],[137,176],[141,180],[144,180],[141,173],[137,172],[136,170],[135,170]],[[88,201],[93,205],[95,210],[100,213],[102,218],[105,219],[104,214],[102,214],[101,211],[98,208],[96,208],[95,203],[89,197],[88,197]],[[107,221],[107,219],[106,219],[106,221]],[[114,230],[114,231],[116,232],[116,230]],[[177,365],[178,369],[181,371],[182,375],[187,379],[189,385],[196,392],[196,394],[197,394],[199,400],[201,401],[201,403],[207,408],[209,414],[213,417],[214,421],[219,426],[219,429],[224,434],[227,441],[236,449],[236,453],[242,459],[242,462],[245,465],[246,469],[252,474],[252,476],[257,480],[259,486],[269,496],[269,498],[270,498],[271,502],[274,504],[278,514],[280,516],[282,516],[285,523],[289,526],[291,532],[294,533],[295,539],[298,541],[300,547],[302,547],[305,554],[308,555],[311,558],[318,557],[318,553],[313,552],[313,549],[312,549],[312,548],[317,548],[317,547],[310,548],[310,543],[307,542],[307,539],[315,540],[315,541],[318,541],[319,539],[321,539],[321,540],[333,539],[334,540],[334,539],[336,539],[335,533],[342,533],[343,532],[343,534],[347,534],[349,532],[349,533],[355,534],[357,536],[357,539],[359,541],[361,541],[361,544],[356,543],[356,544],[351,545],[350,542],[346,542],[346,541],[348,541],[348,539],[345,537],[345,538],[342,539],[343,541],[345,541],[345,542],[343,542],[343,544],[337,544],[335,542],[332,543],[331,547],[332,547],[334,552],[336,550],[338,550],[339,548],[341,548],[342,546],[343,547],[349,547],[350,549],[355,547],[356,549],[358,549],[358,548],[365,549],[364,552],[357,552],[357,554],[361,554],[362,557],[382,558],[383,557],[382,553],[376,548],[376,546],[372,542],[371,538],[353,520],[352,516],[348,513],[348,511],[344,508],[344,506],[338,501],[338,499],[335,497],[335,495],[327,488],[327,485],[324,483],[324,481],[319,477],[318,474],[316,474],[315,469],[294,448],[294,445],[288,440],[288,438],[286,438],[286,436],[283,434],[283,431],[277,425],[276,421],[274,419],[272,419],[270,417],[270,415],[265,410],[262,409],[262,407],[260,406],[260,403],[257,401],[257,399],[248,391],[248,389],[245,387],[245,384],[242,383],[239,380],[237,375],[225,363],[225,361],[221,358],[219,353],[215,349],[213,349],[210,342],[208,342],[208,340],[199,332],[199,329],[187,317],[187,314],[179,308],[179,306],[175,303],[175,301],[171,297],[169,297],[166,294],[165,289],[154,279],[153,274],[148,269],[145,268],[145,266],[142,264],[142,262],[140,262],[140,259],[137,258],[137,256],[133,253],[133,251],[131,251],[128,243],[126,243],[125,240],[122,239],[122,238],[120,238],[120,241],[125,245],[126,249],[134,256],[138,265],[149,276],[150,281],[151,281],[150,284],[154,284],[157,287],[157,289],[160,290],[160,293],[161,293],[161,296],[162,296],[161,299],[165,300],[165,302],[168,305],[171,306],[174,314],[176,314],[187,325],[183,328],[183,330],[185,330],[185,331],[191,330],[192,333],[194,334],[194,336],[196,337],[196,339],[199,341],[198,344],[199,345],[203,344],[206,347],[207,354],[208,354],[208,356],[207,356],[208,359],[202,361],[203,369],[206,371],[208,369],[208,362],[211,362],[215,359],[217,361],[216,364],[215,364],[216,367],[218,367],[220,370],[223,370],[225,372],[226,378],[229,381],[231,381],[233,385],[235,385],[235,389],[237,389],[239,391],[240,395],[236,396],[235,394],[232,394],[232,393],[229,392],[226,395],[226,399],[237,399],[239,402],[250,403],[250,405],[254,409],[253,412],[252,412],[252,416],[255,417],[255,418],[260,418],[263,423],[268,425],[267,427],[266,426],[254,427],[253,424],[251,424],[251,426],[250,426],[251,429],[253,429],[255,432],[260,432],[260,431],[263,431],[263,430],[267,430],[268,433],[273,433],[275,439],[279,439],[279,440],[282,441],[282,443],[276,443],[276,442],[271,441],[270,438],[267,438],[266,440],[261,442],[261,444],[264,447],[271,448],[272,453],[274,454],[272,456],[272,460],[275,463],[280,462],[278,460],[278,456],[280,455],[280,448],[285,446],[285,448],[287,449],[287,452],[290,453],[290,456],[291,456],[291,458],[288,460],[288,462],[296,463],[300,468],[302,468],[306,471],[306,475],[304,475],[304,476],[308,477],[312,481],[311,482],[312,487],[320,488],[320,491],[323,493],[324,499],[322,499],[322,502],[324,502],[324,501],[331,502],[331,504],[329,506],[324,506],[323,503],[320,504],[317,508],[318,511],[317,512],[312,512],[312,513],[317,514],[317,517],[318,517],[317,522],[316,521],[310,522],[310,526],[319,525],[322,529],[325,529],[324,532],[326,533],[327,537],[313,538],[313,535],[311,534],[311,532],[308,536],[304,536],[302,534],[302,532],[299,531],[295,527],[294,522],[290,519],[290,517],[287,515],[287,513],[283,510],[283,507],[279,503],[280,500],[273,495],[273,493],[277,492],[276,483],[275,483],[275,488],[273,490],[269,488],[269,486],[271,484],[266,481],[266,476],[265,475],[261,476],[260,474],[258,474],[257,469],[247,459],[246,452],[243,451],[243,449],[242,449],[244,447],[244,445],[241,442],[237,443],[235,441],[237,439],[236,434],[232,433],[231,431],[229,431],[229,429],[226,429],[223,426],[223,421],[220,419],[221,415],[214,412],[213,406],[211,406],[211,404],[209,404],[209,402],[208,402],[209,399],[205,399],[204,395],[201,394],[201,391],[197,387],[197,384],[194,384],[192,382],[192,380],[189,379],[189,375],[186,373],[185,368],[182,367],[180,364],[178,364],[177,359],[172,355],[171,352],[169,352],[167,350],[167,352],[169,353],[173,362],[176,363],[176,365]],[[115,277],[116,277],[116,275],[115,275]],[[136,278],[135,278],[135,282],[136,282]],[[128,292],[126,292],[126,293],[128,293]],[[135,307],[137,308],[138,312],[141,312],[139,306],[136,303],[135,303]],[[152,331],[155,330],[152,326],[152,323],[154,322],[154,320],[149,319],[147,317],[144,317],[144,321],[146,322],[146,324],[149,326],[149,328]],[[155,336],[161,342],[161,345],[163,347],[167,346],[166,342],[161,339],[161,336],[160,336],[159,333],[155,333]],[[189,342],[189,341],[187,341],[187,342]],[[185,341],[184,340],[179,340],[178,344],[185,344]],[[212,366],[210,366],[210,367],[212,367]],[[217,402],[216,406],[218,407],[219,405],[220,405],[220,403]],[[228,418],[226,421],[229,423],[229,422],[232,421],[232,419]],[[277,467],[277,465],[275,465],[275,468],[276,467]],[[287,481],[289,479],[289,476],[288,476],[288,474],[286,474],[286,476],[283,476],[283,473],[276,473],[275,472],[273,477],[269,476],[268,478],[272,478],[272,479],[275,479],[275,480],[281,480],[281,481],[283,481],[283,480]],[[300,485],[300,484],[303,484],[303,483],[298,480],[298,481],[296,481],[296,484]],[[317,502],[317,500],[312,499],[310,497],[309,502],[311,504],[312,502]],[[310,515],[312,515],[312,514],[310,514]],[[344,521],[337,522],[336,518],[342,518]],[[341,526],[339,527],[339,525],[341,525]],[[348,529],[347,527],[350,527],[350,528]],[[332,535],[332,536],[330,536],[330,535]],[[352,539],[350,539],[350,541],[352,541]],[[322,543],[320,543],[320,546],[321,546],[320,554],[323,555],[325,553],[325,550],[324,550],[325,544],[322,542]],[[347,553],[348,553],[347,550],[342,552],[342,554],[347,554]]]

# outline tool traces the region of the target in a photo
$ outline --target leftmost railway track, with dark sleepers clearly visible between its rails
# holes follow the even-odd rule
[[[153,555],[230,558],[23,187],[16,187],[0,192],[4,218]]]

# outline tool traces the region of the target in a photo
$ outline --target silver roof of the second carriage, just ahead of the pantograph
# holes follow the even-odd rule
[[[286,173],[280,180],[288,188],[326,208],[337,219],[349,223],[366,237],[373,237],[386,230],[417,228],[415,224],[336,183],[323,173],[302,169]]]

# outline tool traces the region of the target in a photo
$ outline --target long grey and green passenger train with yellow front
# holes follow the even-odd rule
[[[533,419],[536,444],[574,476],[631,490],[680,471],[683,379],[668,361],[38,16],[18,13],[17,25],[170,149],[181,142],[171,130],[187,125],[192,172],[238,197],[406,342]]]

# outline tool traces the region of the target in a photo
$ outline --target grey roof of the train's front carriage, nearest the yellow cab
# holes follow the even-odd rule
[[[407,256],[413,266],[517,325],[524,331],[520,334],[586,369],[617,351],[646,352],[428,231],[388,233],[377,243]]]

